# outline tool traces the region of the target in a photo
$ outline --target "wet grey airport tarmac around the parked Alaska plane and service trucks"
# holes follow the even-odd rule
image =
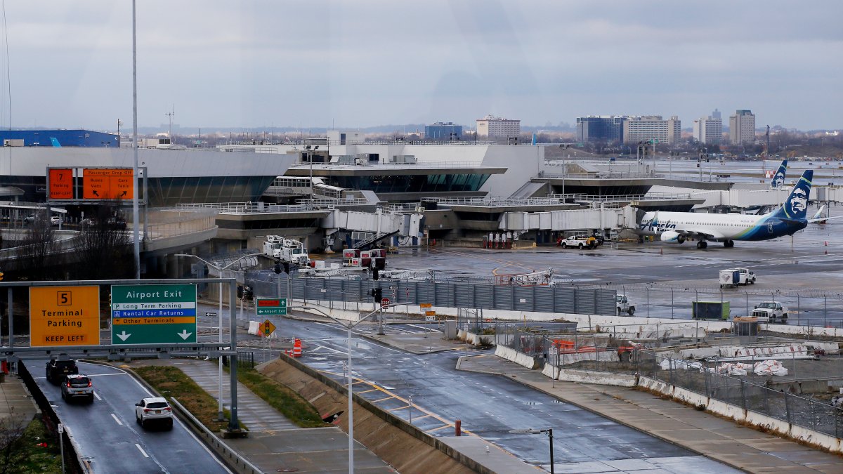
[[[812,207],[813,209],[813,207]],[[836,207],[832,207],[832,215]],[[486,278],[541,272],[552,268],[556,284],[600,286],[626,294],[636,315],[690,319],[692,300],[729,301],[731,316],[746,315],[754,304],[781,301],[788,324],[843,325],[843,219],[809,224],[792,241],[785,237],[736,241],[731,249],[711,243],[697,249],[647,242],[603,245],[595,250],[542,246],[518,250],[439,247],[401,250],[389,268],[429,268],[437,280]],[[720,288],[719,271],[747,267],[758,282]]]

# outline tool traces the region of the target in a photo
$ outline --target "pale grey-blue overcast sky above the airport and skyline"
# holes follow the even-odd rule
[[[727,123],[750,109],[758,127],[843,128],[839,0],[137,6],[141,127],[175,105],[175,123],[207,129],[486,114],[677,115],[687,128],[715,108]],[[11,96],[13,127],[131,127],[131,2],[8,0],[5,13],[0,126]]]

